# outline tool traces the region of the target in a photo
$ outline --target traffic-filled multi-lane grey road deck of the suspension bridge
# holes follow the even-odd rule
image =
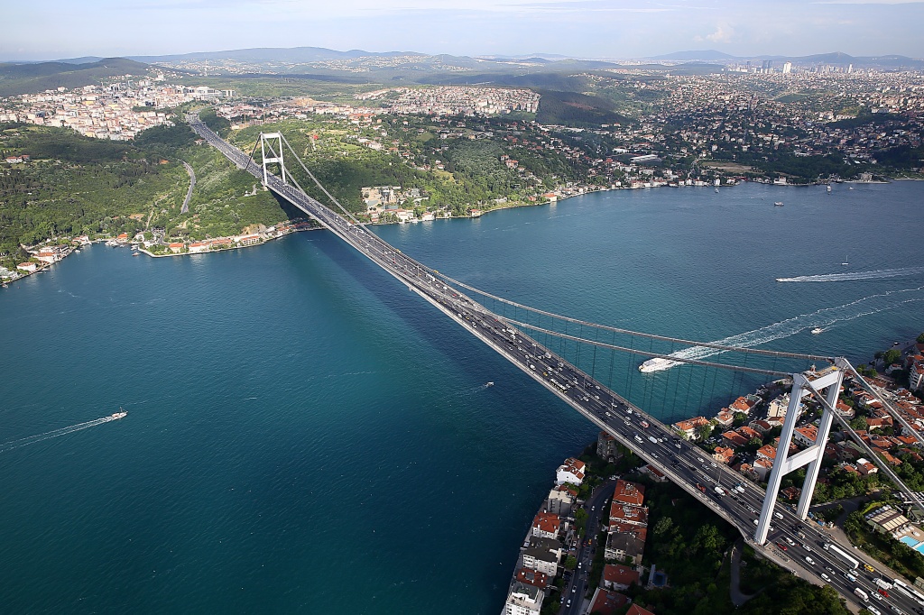
[[[262,181],[262,167],[247,154],[218,137],[201,122],[198,115],[190,114],[187,119],[193,130],[237,164],[238,168]],[[768,542],[764,545],[755,543],[753,535],[765,495],[762,488],[723,464],[713,463],[706,452],[677,437],[671,428],[643,413],[637,406],[508,325],[501,317],[468,296],[457,292],[454,287],[447,286],[440,280],[437,271],[411,259],[377,235],[366,231],[361,224],[348,222],[297,187],[283,183],[275,175],[267,176],[266,186],[358,249],[407,285],[409,290],[456,320],[468,332],[491,346],[595,426],[614,436],[714,513],[735,525],[748,544],[767,558],[810,582],[833,585],[848,602],[861,604],[853,594],[855,587],[863,588],[868,594],[876,594],[875,585],[872,584],[874,576],[866,574],[864,578],[860,557],[857,560],[861,560],[861,568],[854,572],[858,582],[845,578],[845,564],[829,555],[829,551],[821,549],[821,544],[833,542],[833,537],[821,531],[818,525],[803,522],[788,508],[781,506],[774,513],[776,523],[772,525]],[[734,489],[736,485],[740,485],[741,490]],[[715,491],[716,487],[722,489],[721,495]],[[789,545],[787,539],[796,546]],[[785,545],[785,549],[782,549],[782,545]],[[811,550],[805,549],[803,545]],[[859,554],[849,545],[841,547],[850,549],[855,556]],[[806,561],[806,557],[812,561]],[[828,578],[825,579],[822,574]],[[905,612],[924,607],[924,601],[917,604],[900,595],[896,597],[894,593],[886,600],[898,604]],[[876,602],[870,599],[863,606],[873,606],[874,609],[881,606]],[[577,606],[575,604],[573,608]]]

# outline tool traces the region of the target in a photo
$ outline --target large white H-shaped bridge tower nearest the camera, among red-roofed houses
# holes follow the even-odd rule
[[[767,541],[767,533],[773,519],[773,508],[776,506],[776,496],[780,491],[783,476],[803,465],[808,465],[808,468],[805,482],[802,485],[802,495],[796,506],[796,516],[805,521],[808,515],[808,507],[811,505],[811,497],[815,491],[819,470],[821,470],[824,447],[828,443],[828,435],[831,431],[833,410],[837,405],[837,396],[841,392],[841,382],[844,380],[846,366],[842,361],[843,359],[838,359],[833,366],[822,369],[819,373],[793,374],[793,391],[790,393],[789,406],[786,408],[783,433],[780,434],[780,444],[776,450],[776,458],[773,460],[770,480],[767,482],[767,495],[760,510],[757,532],[754,533],[754,540],[760,545]],[[825,402],[827,402],[821,413],[818,435],[808,449],[789,456],[789,444],[793,440],[796,421],[801,414],[802,398],[811,394],[812,390],[823,392]]]

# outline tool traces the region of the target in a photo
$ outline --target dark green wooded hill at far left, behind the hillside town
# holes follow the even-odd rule
[[[143,75],[147,70],[148,65],[124,57],[106,57],[97,62],[84,64],[63,61],[0,64],[0,96],[15,96],[60,87],[79,88],[118,75]]]

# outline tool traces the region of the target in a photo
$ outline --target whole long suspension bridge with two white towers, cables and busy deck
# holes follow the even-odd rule
[[[492,295],[433,270],[367,230],[311,174],[281,133],[261,133],[253,150],[247,154],[221,139],[201,122],[198,115],[189,114],[187,121],[202,139],[207,140],[239,169],[260,179],[264,187],[304,211],[398,282],[405,284],[410,291],[455,320],[597,428],[610,434],[714,513],[735,525],[752,547],[784,568],[819,583],[821,575],[825,574],[822,571],[833,572],[843,567],[843,561],[829,556],[827,550],[817,554],[813,552],[813,559],[804,559],[790,557],[791,553],[787,555],[785,549],[777,547],[782,540],[792,540],[803,545],[808,542],[823,544],[836,541],[819,525],[807,522],[825,444],[835,421],[866,452],[869,460],[879,466],[882,475],[888,476],[903,491],[911,506],[924,513],[924,504],[918,499],[918,494],[906,487],[894,474],[892,467],[882,461],[836,411],[835,405],[845,376],[851,375],[870,394],[880,399],[895,422],[921,445],[924,445],[924,437],[907,423],[906,418],[896,411],[880,390],[861,378],[844,357],[751,347],[760,343],[760,336],[751,340],[753,344],[735,345],[635,332],[570,318]],[[261,163],[257,163],[253,157],[258,147]],[[298,184],[293,169],[286,167],[286,158],[298,163],[296,173],[308,178],[320,191],[319,194],[329,199],[331,207],[308,195]],[[272,165],[277,165],[279,175],[270,172]],[[474,296],[479,299],[475,300],[472,298]],[[582,348],[585,349],[583,356]],[[609,361],[598,361],[598,351],[608,352]],[[639,405],[630,403],[627,397],[631,393],[624,396],[625,392],[615,392],[613,383],[619,379],[614,380],[612,357],[617,353],[637,357],[636,365],[642,360],[653,361],[653,364],[648,365],[662,370],[677,365],[709,368],[713,372],[713,389],[716,382],[714,374],[719,371],[760,377],[763,380],[768,377],[790,379],[792,392],[767,488],[760,488],[723,464],[712,463],[708,453],[680,438],[673,428],[650,416]],[[737,358],[731,358],[733,356]],[[713,357],[722,357],[723,361]],[[607,368],[609,377],[603,380]],[[626,374],[622,379],[628,387],[635,380],[630,376]],[[652,382],[659,377],[645,376],[646,391],[642,395],[645,401],[641,406],[653,402],[650,388],[656,386]],[[682,378],[682,373],[675,376],[675,387]],[[687,380],[692,381],[691,369],[687,370]],[[667,380],[662,386],[666,389],[669,384]],[[704,377],[699,387],[700,403],[707,386]],[[714,390],[710,394],[714,396]],[[806,398],[813,399],[822,409],[818,437],[805,450],[789,454],[799,417],[806,407]],[[802,467],[806,468],[806,477],[795,510],[778,506],[777,494],[784,476]],[[734,486],[738,488],[730,491]],[[853,551],[849,544],[843,544],[842,547]],[[848,600],[859,603],[854,595],[856,582],[841,574],[832,574],[827,582]],[[916,597],[891,599],[905,608],[924,606],[924,599],[918,600]]]

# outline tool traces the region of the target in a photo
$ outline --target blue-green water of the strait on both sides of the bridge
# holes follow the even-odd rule
[[[806,317],[761,347],[864,360],[924,330],[922,197],[662,188],[376,232],[498,295],[650,332],[835,308],[821,335]],[[0,447],[8,612],[493,613],[554,467],[595,435],[323,232],[175,259],[90,247],[0,292],[0,332],[0,444],[128,411]],[[752,384],[595,358],[665,418]]]

